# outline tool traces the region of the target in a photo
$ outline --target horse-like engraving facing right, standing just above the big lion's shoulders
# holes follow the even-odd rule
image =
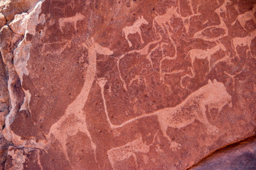
[[[194,72],[193,62],[195,61],[196,58],[201,60],[207,59],[208,70],[210,72],[210,57],[211,55],[215,54],[215,52],[218,52],[218,50],[226,51],[225,46],[221,42],[218,42],[217,45],[207,50],[192,49],[188,51],[188,54],[186,55],[186,57],[189,56],[191,58],[191,66],[192,66],[193,72]]]

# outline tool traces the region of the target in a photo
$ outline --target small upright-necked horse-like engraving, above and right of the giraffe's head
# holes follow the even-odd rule
[[[137,21],[134,22],[132,26],[126,26],[122,30],[122,34],[125,36],[125,39],[127,40],[129,47],[132,47],[132,42],[129,41],[128,35],[129,34],[134,34],[134,33],[139,33],[139,38],[141,40],[141,43],[144,43],[144,40],[142,39],[142,31],[140,30],[140,26],[142,24],[149,25],[148,21],[146,21],[143,16],[139,17]]]

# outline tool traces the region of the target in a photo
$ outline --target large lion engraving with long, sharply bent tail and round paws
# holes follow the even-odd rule
[[[184,128],[197,119],[203,123],[203,125],[206,125],[208,133],[214,135],[216,132],[218,132],[218,128],[208,122],[208,118],[206,116],[206,106],[212,108],[216,107],[218,108],[218,111],[220,111],[226,104],[229,104],[229,106],[232,107],[232,98],[228,94],[224,84],[214,79],[213,82],[208,80],[208,84],[202,86],[197,91],[194,91],[174,108],[163,108],[161,110],[154,111],[153,113],[139,115],[136,118],[127,120],[121,125],[113,125],[107,112],[107,104],[104,95],[104,86],[106,82],[106,79],[100,79],[98,84],[100,85],[105,114],[107,116],[107,121],[110,124],[110,128],[122,128],[124,125],[132,123],[141,118],[156,115],[161,127],[161,132],[169,141],[171,149],[179,149],[181,145],[172,141],[169,135],[167,135],[166,131],[169,127]]]

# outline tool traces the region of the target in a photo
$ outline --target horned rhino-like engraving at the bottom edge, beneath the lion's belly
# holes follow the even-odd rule
[[[108,150],[107,157],[110,160],[112,168],[115,169],[114,164],[116,162],[122,162],[125,159],[129,159],[129,157],[134,158],[135,165],[138,168],[137,156],[135,152],[140,152],[144,154],[148,153],[150,146],[154,144],[156,134],[154,135],[153,142],[151,142],[151,144],[149,145],[146,145],[146,141],[142,141],[142,135],[140,135],[136,140],[132,140],[132,142],[128,142],[126,145],[123,145],[121,147],[114,147]]]

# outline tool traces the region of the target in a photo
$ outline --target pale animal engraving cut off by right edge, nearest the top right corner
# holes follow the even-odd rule
[[[238,21],[242,26],[242,28],[246,30],[245,24],[247,23],[247,21],[252,20],[256,24],[256,18],[254,15],[255,12],[256,12],[256,5],[252,8],[252,11],[247,11],[245,13],[239,14],[238,17],[235,19],[235,21],[231,25],[234,26],[236,21]]]

